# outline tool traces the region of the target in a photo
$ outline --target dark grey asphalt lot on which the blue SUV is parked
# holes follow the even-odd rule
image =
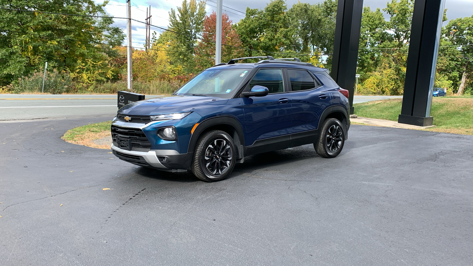
[[[473,136],[352,125],[205,183],[60,139],[110,118],[0,124],[1,265],[472,265]]]

